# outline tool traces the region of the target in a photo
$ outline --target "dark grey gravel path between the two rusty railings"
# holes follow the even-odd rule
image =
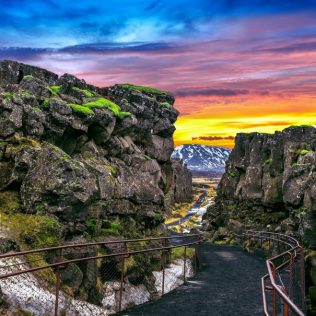
[[[264,260],[233,246],[205,244],[204,254],[203,271],[185,285],[120,315],[261,316]]]

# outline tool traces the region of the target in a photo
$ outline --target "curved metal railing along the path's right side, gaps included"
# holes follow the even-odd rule
[[[261,278],[264,314],[304,316],[305,264],[300,243],[273,232],[246,231],[242,237],[271,252],[266,260],[268,273]]]

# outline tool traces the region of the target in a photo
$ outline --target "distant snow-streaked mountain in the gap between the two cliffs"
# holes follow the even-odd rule
[[[191,171],[223,173],[231,150],[206,145],[182,145],[176,147],[172,158],[182,159]]]

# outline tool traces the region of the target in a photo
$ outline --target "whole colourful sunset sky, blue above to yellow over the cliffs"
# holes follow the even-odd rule
[[[0,4],[0,59],[170,91],[176,145],[316,124],[316,0]]]

